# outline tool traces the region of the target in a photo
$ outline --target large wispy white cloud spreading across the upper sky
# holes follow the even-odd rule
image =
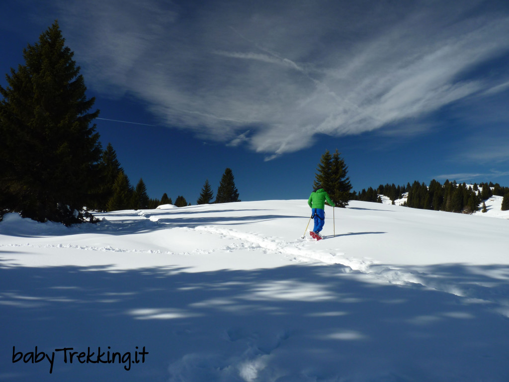
[[[415,120],[444,105],[507,88],[509,73],[474,69],[509,50],[509,10],[241,3],[62,2],[60,20],[94,89],[132,93],[161,123],[267,158],[317,133],[422,127]]]

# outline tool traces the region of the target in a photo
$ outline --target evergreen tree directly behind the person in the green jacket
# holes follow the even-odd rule
[[[351,194],[352,185],[347,176],[348,167],[337,149],[333,155],[329,150],[325,150],[320,158],[317,171],[313,187],[316,189],[321,186],[336,206],[345,208],[353,197]],[[381,187],[383,190],[383,185]]]

